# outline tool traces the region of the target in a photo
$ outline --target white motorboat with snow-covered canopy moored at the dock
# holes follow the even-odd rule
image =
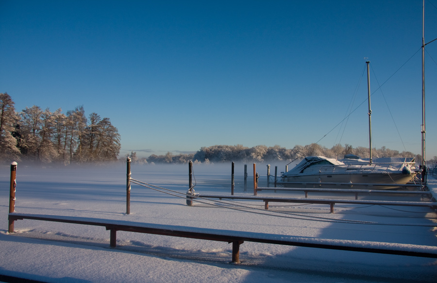
[[[334,158],[307,156],[283,173],[277,184],[284,187],[393,189],[411,182],[416,172],[403,166],[377,163],[346,164]]]

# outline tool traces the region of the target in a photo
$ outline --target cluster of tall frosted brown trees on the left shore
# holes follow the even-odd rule
[[[0,93],[0,161],[90,163],[117,161],[120,135],[109,118],[85,117],[83,106],[61,113],[38,106],[15,111],[15,103]]]

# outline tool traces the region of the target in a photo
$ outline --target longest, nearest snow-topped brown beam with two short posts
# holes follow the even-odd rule
[[[54,221],[72,224],[103,226],[110,230],[110,246],[117,246],[117,231],[128,231],[136,233],[149,233],[220,241],[232,243],[232,262],[239,263],[239,249],[244,242],[268,243],[276,245],[308,247],[330,250],[349,250],[384,254],[407,255],[417,257],[437,258],[437,247],[420,246],[397,243],[367,242],[322,239],[315,237],[297,237],[281,234],[240,232],[231,230],[207,229],[198,227],[186,227],[175,225],[161,225],[153,223],[140,223],[123,220],[75,217],[75,216],[53,216],[10,213],[9,221],[21,219],[33,219],[42,221]]]

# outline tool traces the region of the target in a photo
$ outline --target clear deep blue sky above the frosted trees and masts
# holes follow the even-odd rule
[[[425,7],[428,42],[437,0]],[[367,57],[373,146],[420,154],[421,13],[421,0],[0,0],[0,92],[17,111],[109,117],[120,154],[293,148],[327,133],[322,146],[368,147]],[[437,41],[426,50],[431,159]]]

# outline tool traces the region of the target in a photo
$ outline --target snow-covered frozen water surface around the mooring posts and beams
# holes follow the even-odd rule
[[[257,168],[263,185],[267,169]],[[252,174],[248,191],[243,192],[243,169],[235,166],[235,193],[251,195]],[[196,192],[230,194],[230,164],[194,165],[194,177]],[[188,165],[133,164],[132,178],[185,193]],[[68,283],[436,282],[437,278],[437,260],[431,258],[246,242],[236,265],[230,263],[232,245],[222,242],[118,232],[118,246],[110,248],[104,227],[37,220],[18,220],[16,233],[9,234],[9,180],[10,167],[0,167],[0,275]],[[437,195],[437,181],[430,177],[429,183]],[[219,200],[211,201],[218,206],[190,207],[184,199],[133,184],[131,214],[126,215],[126,166],[121,164],[86,168],[18,164],[16,198],[17,213],[437,246],[437,214],[428,208],[336,205],[331,214],[328,205],[270,203],[265,214],[263,202],[238,201],[257,208],[250,213]],[[313,218],[304,220],[301,215]]]

